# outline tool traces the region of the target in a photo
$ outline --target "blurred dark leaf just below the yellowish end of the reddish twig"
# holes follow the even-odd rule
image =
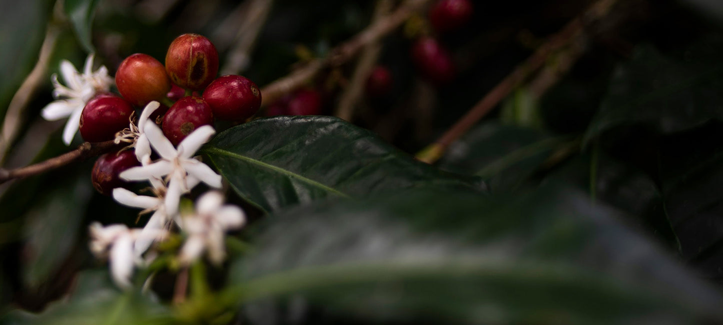
[[[486,123],[454,142],[440,160],[440,168],[479,175],[491,191],[512,189],[535,173],[566,140],[534,129]]]

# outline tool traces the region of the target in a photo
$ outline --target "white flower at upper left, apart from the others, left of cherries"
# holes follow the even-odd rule
[[[107,92],[111,89],[113,79],[108,76],[108,69],[105,66],[93,72],[93,54],[85,60],[83,73],[78,73],[75,66],[67,60],[60,63],[60,74],[65,85],[58,82],[58,76],[53,74],[52,82],[55,90],[53,96],[57,99],[43,108],[41,115],[48,121],[56,121],[61,118],[68,118],[63,129],[63,142],[70,144],[73,136],[80,126],[80,113],[85,103],[98,92]]]

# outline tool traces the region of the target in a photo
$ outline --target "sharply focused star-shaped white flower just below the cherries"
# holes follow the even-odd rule
[[[155,126],[155,123],[145,123],[143,130],[151,147],[158,152],[161,159],[124,170],[120,177],[126,181],[163,178],[168,183],[164,197],[168,215],[178,213],[181,195],[189,192],[199,181],[211,187],[221,188],[221,175],[215,173],[208,165],[193,158],[196,151],[215,134],[212,126],[201,126],[194,130],[181,141],[177,148],[174,148],[161,129]]]

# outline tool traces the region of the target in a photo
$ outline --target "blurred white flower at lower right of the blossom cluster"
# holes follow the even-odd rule
[[[222,204],[223,194],[209,191],[196,202],[196,214],[181,219],[183,230],[188,234],[179,256],[181,264],[191,264],[204,251],[214,264],[221,264],[226,258],[226,231],[241,228],[246,217],[239,207]]]

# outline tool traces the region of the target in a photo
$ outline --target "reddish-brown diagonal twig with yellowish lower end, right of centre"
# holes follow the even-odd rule
[[[439,160],[447,147],[459,139],[460,136],[466,134],[472,126],[495,108],[500,101],[504,100],[510,92],[519,87],[531,74],[537,71],[547,61],[552,53],[560,51],[574,40],[584,38],[585,26],[591,21],[600,20],[611,11],[612,6],[617,0],[599,0],[595,2],[581,16],[576,17],[565,25],[565,27],[553,35],[547,43],[540,46],[526,61],[517,66],[511,74],[497,84],[487,95],[482,97],[457,123],[455,123],[445,134],[433,144],[430,144],[421,152],[417,153],[418,160],[433,163]]]

